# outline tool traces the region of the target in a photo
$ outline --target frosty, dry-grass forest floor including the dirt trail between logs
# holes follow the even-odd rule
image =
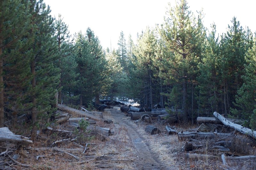
[[[76,115],[72,115],[76,117]],[[52,133],[46,131],[40,134],[40,140],[33,143],[28,148],[21,148],[15,151],[20,157],[18,162],[28,165],[27,169],[145,169],[145,170],[172,170],[172,169],[256,169],[253,159],[248,160],[227,160],[227,165],[223,166],[219,159],[186,160],[184,145],[187,141],[179,140],[178,135],[168,135],[165,126],[157,121],[151,123],[134,121],[120,111],[120,107],[114,106],[112,109],[105,109],[104,119],[111,119],[113,123],[97,123],[97,126],[111,129],[112,135],[96,135],[84,143],[62,142],[54,146],[51,145],[56,140],[60,140],[65,134]],[[162,133],[150,135],[145,132],[147,125],[154,125]],[[71,130],[68,126],[59,125],[63,130]],[[172,124],[178,131],[187,131],[191,126]],[[90,134],[88,135],[90,136]],[[66,138],[77,137],[66,136]],[[198,139],[199,140],[199,139]],[[210,145],[210,139],[200,139],[206,148]],[[88,145],[85,153],[82,153],[86,143]],[[80,150],[76,150],[81,146]],[[60,152],[51,147],[62,149]],[[239,146],[241,148],[241,146]],[[47,150],[37,150],[36,148],[50,148]],[[76,149],[75,149],[76,148]],[[73,150],[72,150],[73,149]],[[255,147],[250,148],[250,153],[256,155]],[[71,154],[68,154],[71,153]],[[196,153],[214,154],[209,149],[198,149]],[[42,157],[36,158],[41,155]],[[12,166],[14,167],[14,166]],[[8,169],[8,168],[7,168]],[[24,166],[16,166],[15,169],[26,169]]]

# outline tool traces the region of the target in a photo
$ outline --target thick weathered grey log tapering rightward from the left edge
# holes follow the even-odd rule
[[[21,143],[23,145],[29,145],[33,143],[33,141],[28,140],[28,137],[15,135],[7,127],[0,128],[0,142]]]

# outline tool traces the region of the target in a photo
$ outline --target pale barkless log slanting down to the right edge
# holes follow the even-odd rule
[[[241,125],[238,125],[236,123],[233,123],[231,121],[228,121],[226,118],[224,118],[223,116],[221,116],[219,113],[214,112],[213,115],[219,119],[224,125],[230,127],[230,128],[234,128],[235,130],[245,134],[245,135],[249,135],[252,138],[256,139],[256,132],[253,131],[252,129],[249,128],[245,128]]]

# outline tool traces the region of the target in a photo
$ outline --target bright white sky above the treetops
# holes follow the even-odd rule
[[[155,27],[164,22],[168,8],[175,0],[44,0],[51,7],[51,14],[64,18],[71,34],[80,30],[85,33],[90,27],[99,37],[104,49],[117,49],[120,32],[123,31],[126,42],[129,34],[136,43],[137,33],[147,26]],[[189,10],[196,14],[203,8],[204,26],[210,29],[215,22],[217,32],[226,32],[235,16],[243,28],[256,31],[255,0],[187,0]]]

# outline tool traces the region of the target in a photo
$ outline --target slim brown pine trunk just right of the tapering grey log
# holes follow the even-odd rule
[[[36,140],[36,94],[35,94],[35,88],[36,88],[36,61],[33,59],[31,61],[31,74],[33,75],[33,79],[31,81],[32,85],[32,96],[31,96],[31,102],[33,104],[32,106],[32,113],[31,113],[31,124],[32,124],[32,135],[31,139],[32,141]]]

